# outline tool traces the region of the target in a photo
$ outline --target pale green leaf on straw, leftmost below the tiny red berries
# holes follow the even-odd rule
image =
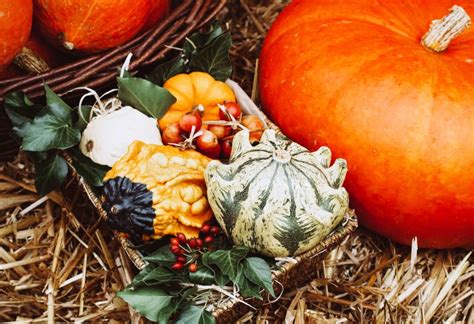
[[[124,290],[118,292],[117,296],[125,300],[147,319],[155,322],[159,320],[160,312],[165,309],[173,299],[173,296],[157,288]]]

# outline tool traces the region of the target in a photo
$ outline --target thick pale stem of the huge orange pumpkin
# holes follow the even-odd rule
[[[423,36],[421,44],[440,53],[470,25],[471,17],[466,11],[460,6],[453,6],[447,16],[431,22],[430,30]]]

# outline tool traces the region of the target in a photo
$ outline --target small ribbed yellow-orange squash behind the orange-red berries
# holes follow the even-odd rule
[[[162,131],[199,105],[204,107],[203,121],[219,120],[217,105],[225,101],[235,101],[234,92],[227,84],[204,72],[178,74],[166,81],[164,87],[176,98],[176,103],[160,119]]]

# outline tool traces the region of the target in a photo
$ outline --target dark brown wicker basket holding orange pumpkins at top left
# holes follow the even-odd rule
[[[43,96],[43,84],[47,83],[63,98],[76,87],[100,89],[109,86],[117,76],[117,68],[128,53],[134,54],[129,71],[132,74],[149,71],[165,58],[173,46],[179,45],[186,36],[208,24],[224,7],[226,0],[182,0],[171,14],[156,28],[130,40],[108,52],[89,56],[39,75],[0,80],[0,104],[3,96],[12,91],[24,91],[31,99]],[[9,137],[11,124],[0,107],[0,161],[16,154],[18,143]]]

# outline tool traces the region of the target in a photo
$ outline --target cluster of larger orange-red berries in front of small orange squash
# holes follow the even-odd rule
[[[243,116],[236,102],[224,102],[219,108],[218,121],[203,122],[202,109],[184,114],[179,122],[166,127],[162,135],[163,142],[183,148],[197,148],[212,159],[228,159],[236,131],[246,128],[250,131],[251,142],[260,140],[263,124],[257,116]]]

